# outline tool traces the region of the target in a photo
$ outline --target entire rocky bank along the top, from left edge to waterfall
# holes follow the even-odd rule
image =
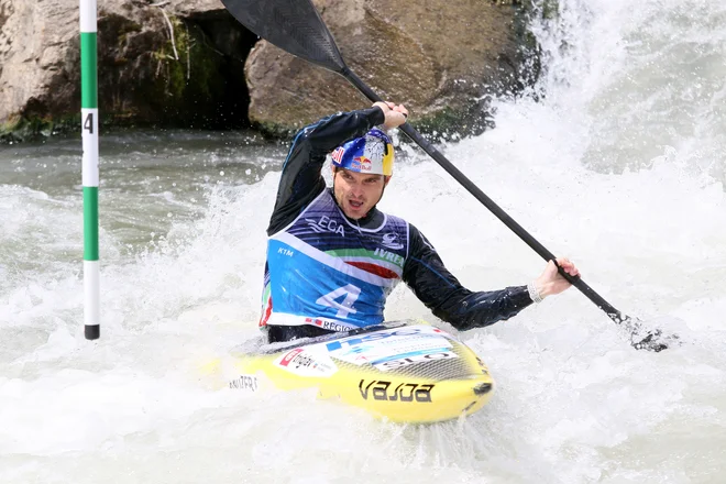
[[[517,7],[316,3],[349,66],[428,131],[477,132],[487,96],[528,81]],[[78,13],[78,0],[0,0],[0,141],[80,131]],[[249,114],[287,134],[370,105],[341,77],[257,43],[219,0],[103,0],[98,46],[102,125],[233,128]]]

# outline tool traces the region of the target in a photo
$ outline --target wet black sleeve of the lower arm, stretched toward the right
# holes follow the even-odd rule
[[[424,234],[414,226],[409,228],[404,282],[438,318],[463,331],[509,319],[532,302],[527,286],[482,293],[466,289],[444,267]]]

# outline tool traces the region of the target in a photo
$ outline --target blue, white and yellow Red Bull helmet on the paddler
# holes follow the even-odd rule
[[[369,131],[365,136],[338,146],[330,156],[333,166],[339,168],[371,175],[393,175],[393,143],[377,128]]]

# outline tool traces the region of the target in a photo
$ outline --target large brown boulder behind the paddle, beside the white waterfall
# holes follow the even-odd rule
[[[515,6],[492,1],[316,0],[345,63],[382,98],[405,103],[422,131],[482,131],[487,96],[516,92],[528,69]],[[245,65],[250,119],[289,132],[370,106],[343,77],[261,42]]]

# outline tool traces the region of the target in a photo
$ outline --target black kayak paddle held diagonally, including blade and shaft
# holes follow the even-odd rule
[[[260,37],[297,57],[340,74],[371,101],[383,101],[345,65],[336,41],[310,0],[222,0],[222,3],[240,23]],[[492,201],[410,124],[402,125],[400,130],[542,258],[556,261],[550,251]],[[557,262],[554,263],[557,264]],[[638,321],[615,309],[579,276],[572,277],[559,266],[558,270],[565,279],[605,311],[614,322],[623,324],[630,332],[630,343],[634,348],[656,352],[668,348],[668,344],[660,340],[660,330],[648,332],[644,338],[640,333],[641,324]]]

